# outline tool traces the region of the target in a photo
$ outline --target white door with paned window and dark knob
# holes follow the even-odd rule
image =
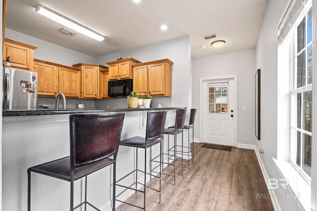
[[[235,81],[203,82],[203,142],[234,146]]]

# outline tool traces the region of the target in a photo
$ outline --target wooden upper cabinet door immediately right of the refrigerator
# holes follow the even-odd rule
[[[58,92],[58,67],[34,62],[34,72],[38,73],[38,95],[55,97]]]

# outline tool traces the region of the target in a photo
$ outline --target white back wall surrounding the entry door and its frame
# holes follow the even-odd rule
[[[193,59],[193,108],[199,110],[199,80],[206,77],[238,76],[238,144],[255,144],[254,102],[256,50],[248,49],[226,54]],[[242,111],[242,106],[247,110]],[[236,114],[236,113],[235,113]],[[196,113],[195,130],[199,131],[199,111]],[[199,137],[195,133],[196,138]],[[202,140],[201,140],[202,141]]]

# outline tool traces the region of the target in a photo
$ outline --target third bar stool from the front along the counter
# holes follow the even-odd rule
[[[168,176],[174,176],[174,185],[175,185],[175,176],[176,176],[176,167],[181,168],[181,172],[183,175],[183,128],[184,128],[184,123],[185,123],[185,117],[186,117],[186,109],[177,109],[176,110],[176,118],[175,118],[175,125],[173,128],[164,128],[163,134],[167,134],[167,153],[163,153],[163,155],[167,156],[167,163],[162,162],[162,164],[168,164],[170,166],[174,167],[174,174],[167,174],[167,173],[162,173],[164,175]],[[182,134],[182,145],[177,145],[177,134],[181,133]],[[174,145],[172,147],[169,147],[169,135],[174,135]],[[163,143],[164,144],[164,143]],[[182,147],[182,151],[178,151],[177,147]],[[163,147],[162,147],[163,148]],[[173,154],[170,154],[170,152],[173,152]],[[182,157],[177,156],[177,154],[181,153]],[[170,159],[173,158],[174,163],[170,163]],[[177,158],[181,158],[181,166],[176,165]]]

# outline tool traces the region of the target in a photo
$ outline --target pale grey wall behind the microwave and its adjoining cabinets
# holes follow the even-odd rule
[[[168,58],[174,62],[172,65],[172,97],[154,97],[153,106],[161,103],[163,106],[187,107],[189,110],[191,94],[189,36],[99,56],[96,57],[95,63],[108,66],[106,62],[115,61],[120,57],[132,57],[141,62]],[[126,107],[126,99],[95,101],[96,108],[105,108],[107,106]]]

